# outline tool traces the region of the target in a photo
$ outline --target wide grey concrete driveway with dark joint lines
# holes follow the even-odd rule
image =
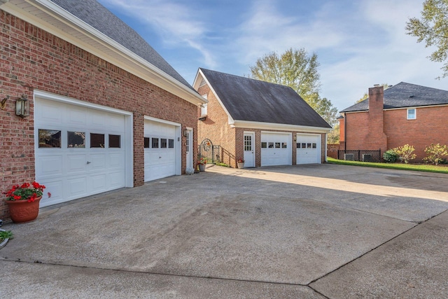
[[[447,298],[448,175],[211,166],[3,225],[0,298]]]

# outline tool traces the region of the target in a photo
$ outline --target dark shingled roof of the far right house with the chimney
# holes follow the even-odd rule
[[[400,82],[384,90],[384,109],[448,104],[448,91]],[[369,99],[340,112],[368,111]]]

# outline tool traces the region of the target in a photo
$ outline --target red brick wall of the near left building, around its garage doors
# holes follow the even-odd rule
[[[1,10],[0,25],[0,100],[6,95],[12,98],[0,110],[1,192],[35,177],[34,89],[132,111],[134,186],[144,183],[144,115],[197,131],[194,104]],[[22,94],[30,99],[30,116],[25,119],[15,116],[15,99]],[[182,137],[182,157],[185,144]],[[197,153],[196,140],[193,148]],[[182,158],[182,173],[185,167]],[[0,218],[7,216],[0,203]]]

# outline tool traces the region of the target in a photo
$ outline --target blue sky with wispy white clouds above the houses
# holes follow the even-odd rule
[[[374,84],[448,90],[433,49],[405,34],[423,0],[99,0],[193,84],[199,67],[244,76],[258,57],[316,53],[321,96],[338,110]]]

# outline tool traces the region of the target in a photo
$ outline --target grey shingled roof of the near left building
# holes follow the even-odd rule
[[[131,27],[95,0],[51,0],[188,88],[193,87]]]

